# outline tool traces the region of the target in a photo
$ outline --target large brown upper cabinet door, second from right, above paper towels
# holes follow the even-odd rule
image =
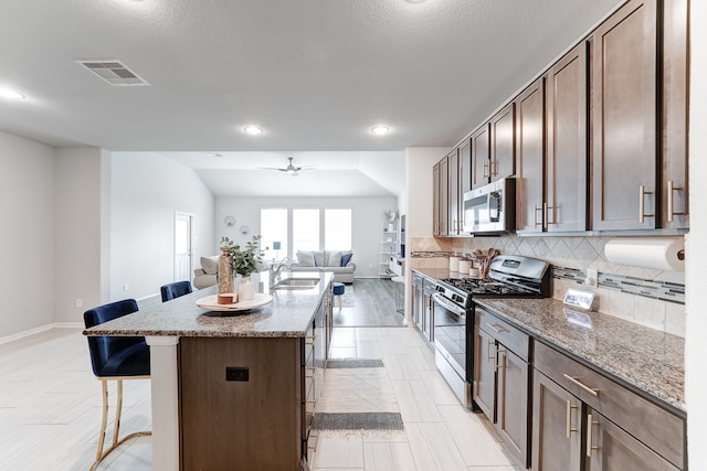
[[[656,30],[632,0],[592,35],[593,229],[657,226]]]

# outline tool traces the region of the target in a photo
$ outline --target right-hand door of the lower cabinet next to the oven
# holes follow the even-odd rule
[[[498,351],[498,421],[504,446],[527,467],[528,463],[528,363],[500,345]]]

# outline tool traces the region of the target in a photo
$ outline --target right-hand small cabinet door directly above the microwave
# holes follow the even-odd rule
[[[516,174],[515,104],[510,103],[490,120],[490,181]]]

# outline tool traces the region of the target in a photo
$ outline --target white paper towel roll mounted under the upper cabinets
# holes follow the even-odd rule
[[[604,246],[606,260],[618,265],[684,271],[683,237],[615,238]]]

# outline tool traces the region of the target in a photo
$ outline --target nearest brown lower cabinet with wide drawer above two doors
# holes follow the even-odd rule
[[[685,417],[535,342],[536,471],[686,469]]]

